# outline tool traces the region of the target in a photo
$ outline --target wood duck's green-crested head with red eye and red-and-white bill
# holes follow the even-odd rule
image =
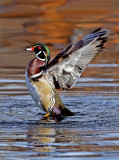
[[[46,45],[42,43],[36,43],[33,47],[26,48],[25,50],[29,52],[35,52],[37,59],[44,61],[46,65],[48,64],[50,60],[50,51]]]

